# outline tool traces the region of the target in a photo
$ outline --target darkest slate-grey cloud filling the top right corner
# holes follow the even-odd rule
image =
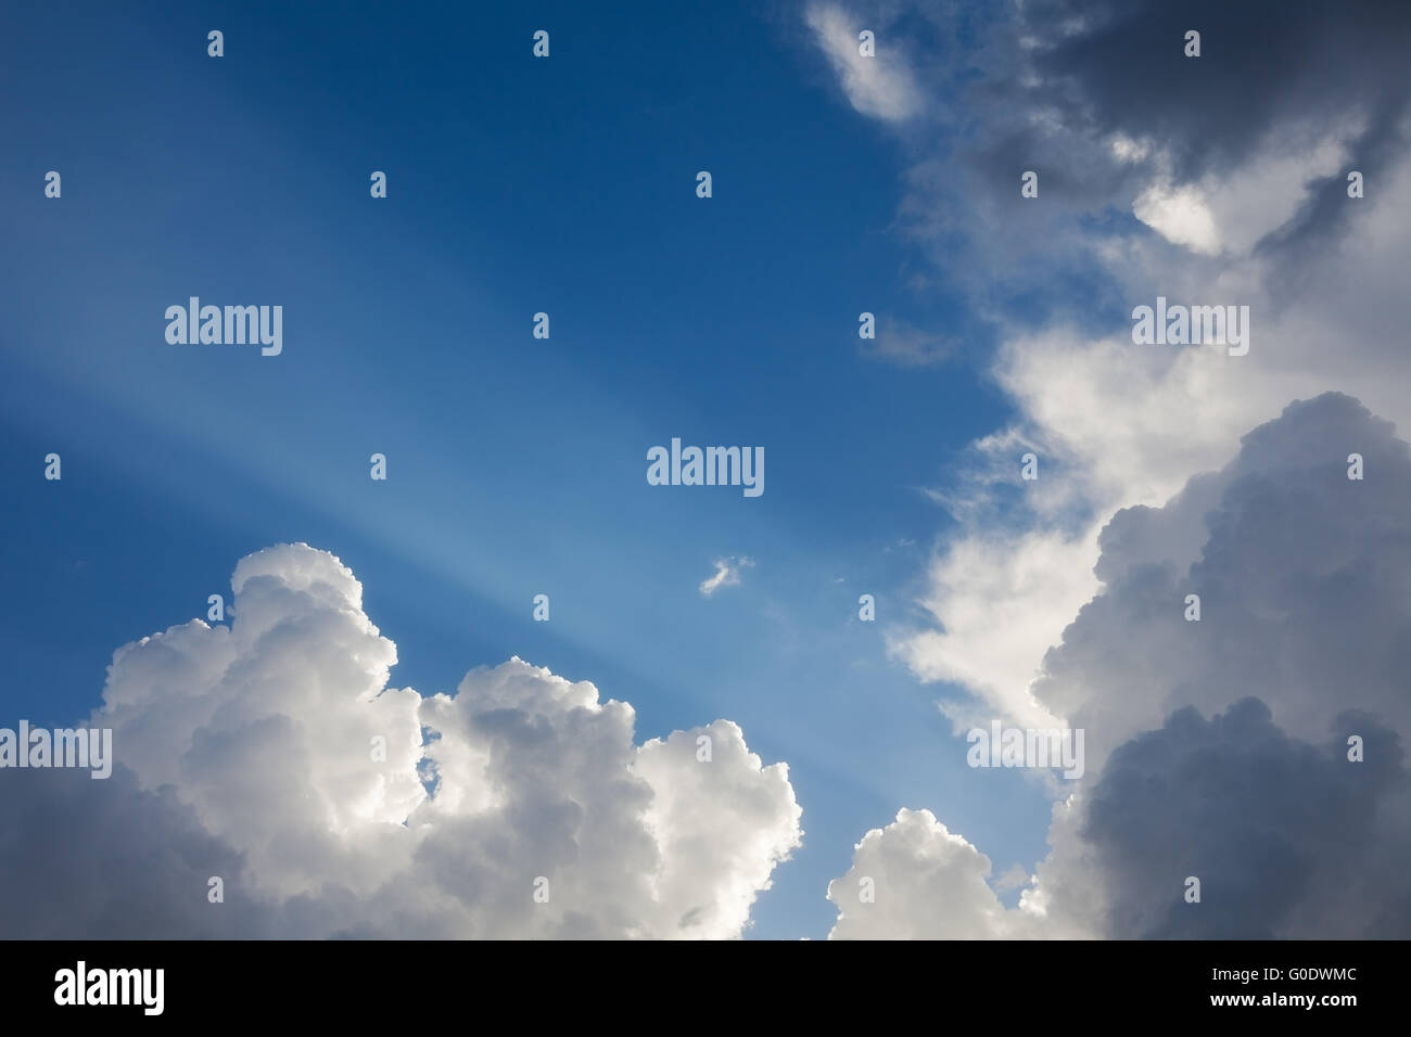
[[[1284,120],[1362,107],[1384,133],[1407,102],[1411,4],[1062,0],[1026,4],[1024,21],[1075,120],[1168,142],[1181,179],[1242,164]],[[1199,58],[1184,54],[1188,30]]]

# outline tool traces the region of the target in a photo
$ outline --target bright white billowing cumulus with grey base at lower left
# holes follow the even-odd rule
[[[229,626],[116,652],[90,718],[113,779],[0,784],[0,931],[737,937],[800,845],[786,765],[729,721],[636,745],[631,705],[518,657],[426,698],[388,687],[332,554],[270,547],[231,583]]]

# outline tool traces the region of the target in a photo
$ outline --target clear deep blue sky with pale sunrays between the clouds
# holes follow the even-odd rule
[[[7,712],[85,715],[117,646],[306,540],[363,581],[394,684],[519,655],[631,701],[639,738],[728,717],[787,760],[807,835],[756,935],[824,935],[828,879],[900,804],[1030,866],[1047,800],[964,766],[880,629],[947,521],[921,488],[1006,418],[975,322],[904,288],[896,142],[749,4],[418,10],[13,13]],[[190,295],[281,303],[282,356],[168,344]],[[862,310],[961,347],[865,357]],[[649,487],[673,436],[763,446],[765,494]],[[722,556],[755,566],[706,598]]]

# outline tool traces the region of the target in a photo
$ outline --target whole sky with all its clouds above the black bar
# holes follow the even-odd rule
[[[507,7],[4,16],[0,930],[1404,937],[1408,8]]]

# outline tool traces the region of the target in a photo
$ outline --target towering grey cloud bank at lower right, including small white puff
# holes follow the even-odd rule
[[[1101,590],[1033,686],[1085,731],[1088,775],[1019,906],[975,847],[903,810],[830,886],[832,935],[1405,938],[1408,530],[1411,450],[1340,394],[1119,512]]]

